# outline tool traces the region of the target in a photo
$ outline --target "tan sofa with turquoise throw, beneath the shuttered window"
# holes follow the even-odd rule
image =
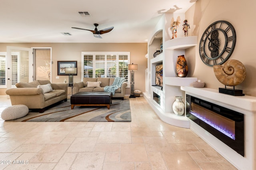
[[[73,94],[78,93],[78,92],[95,92],[95,91],[104,91],[104,87],[108,85],[112,85],[114,82],[115,78],[87,78],[85,77],[83,81],[74,83],[74,88],[73,88]],[[100,87],[87,87],[87,82],[101,82]],[[113,98],[121,98],[124,100],[124,95],[125,95],[125,88],[127,87],[127,83],[124,82],[121,85],[121,88],[118,88],[115,91],[115,94],[113,95]]]

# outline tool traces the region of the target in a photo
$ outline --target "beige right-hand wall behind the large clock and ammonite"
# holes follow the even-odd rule
[[[246,68],[246,78],[236,89],[256,97],[255,9],[255,0],[246,0],[246,3],[240,0],[198,0],[186,12],[186,19],[191,26],[189,36],[198,36],[198,44],[204,30],[213,22],[226,20],[234,26],[236,47],[229,59],[241,61]],[[198,77],[212,89],[224,87],[216,79],[213,68],[201,61],[198,45],[186,50],[186,58],[190,66],[189,77]]]

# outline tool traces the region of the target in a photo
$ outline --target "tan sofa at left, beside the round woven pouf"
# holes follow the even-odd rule
[[[47,87],[50,88],[48,84],[50,84],[53,91],[44,93]],[[37,88],[38,85],[41,88]],[[40,109],[39,113],[43,113],[46,107],[54,103],[62,100],[67,101],[68,83],[51,83],[48,80],[36,80],[30,83],[16,83],[16,87],[6,90],[12,105],[26,105],[29,109]]]

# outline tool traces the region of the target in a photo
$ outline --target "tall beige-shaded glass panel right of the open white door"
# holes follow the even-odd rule
[[[34,80],[50,81],[50,49],[34,49]]]

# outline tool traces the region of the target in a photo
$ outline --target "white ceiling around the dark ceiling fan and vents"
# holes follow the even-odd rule
[[[1,0],[0,42],[141,43],[164,12],[184,13],[196,0]],[[78,12],[89,12],[82,17]],[[171,20],[171,18],[170,18]],[[92,32],[114,26],[94,38]],[[70,33],[64,36],[61,33]]]

